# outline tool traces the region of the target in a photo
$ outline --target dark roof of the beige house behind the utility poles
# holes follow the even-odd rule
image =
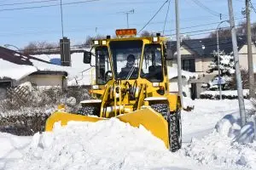
[[[177,51],[176,41],[167,42],[167,48],[172,50],[172,55]],[[219,50],[224,51],[225,54],[233,52],[232,38],[220,37],[219,38]],[[240,50],[245,44],[247,44],[247,38],[245,36],[237,37],[237,47]],[[210,56],[212,52],[217,51],[217,38],[201,38],[201,39],[189,39],[183,40],[182,45],[185,45],[188,49],[197,54],[198,57]]]

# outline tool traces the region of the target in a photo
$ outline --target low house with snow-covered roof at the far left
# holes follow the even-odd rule
[[[65,88],[66,77],[67,71],[59,65],[0,47],[0,88],[16,87],[23,82]]]

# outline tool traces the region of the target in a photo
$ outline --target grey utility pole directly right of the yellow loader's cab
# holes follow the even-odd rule
[[[183,105],[183,79],[181,71],[181,54],[180,54],[180,32],[179,32],[179,9],[178,0],[175,0],[175,13],[176,13],[176,39],[177,39],[177,87],[180,96],[181,104]]]

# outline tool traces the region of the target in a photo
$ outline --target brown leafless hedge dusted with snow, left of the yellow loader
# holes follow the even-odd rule
[[[89,99],[86,88],[37,88],[30,87],[30,98],[24,102],[8,98],[0,100],[0,132],[32,135],[44,130],[48,116],[57,105],[66,105],[67,111],[79,111],[79,102]]]

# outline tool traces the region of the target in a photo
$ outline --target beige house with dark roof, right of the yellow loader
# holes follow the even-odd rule
[[[167,42],[168,65],[177,66],[177,45],[176,42]],[[247,66],[247,39],[246,37],[237,37],[237,48],[239,53],[241,69],[248,68]],[[253,65],[256,65],[256,47],[253,48]],[[212,52],[217,51],[216,38],[202,38],[183,40],[181,43],[181,58],[182,69],[184,71],[196,72],[198,79],[191,82],[192,91],[198,98],[205,89],[201,88],[202,83],[209,82],[215,77],[218,72],[207,73],[208,66],[212,62]],[[225,54],[233,52],[231,37],[219,38],[219,50]]]

